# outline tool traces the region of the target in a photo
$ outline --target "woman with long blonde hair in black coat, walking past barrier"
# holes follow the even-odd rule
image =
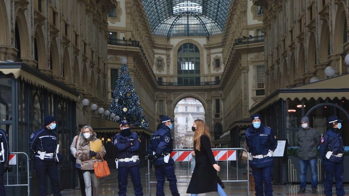
[[[218,177],[216,171],[221,167],[216,164],[211,150],[211,142],[208,127],[203,120],[195,120],[192,130],[194,133],[195,168],[190,180],[187,193],[197,196],[200,193],[218,191],[218,195],[227,196],[223,188],[224,185]]]

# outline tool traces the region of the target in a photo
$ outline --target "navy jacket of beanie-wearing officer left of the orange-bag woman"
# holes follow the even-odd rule
[[[48,153],[54,153],[56,152],[58,144],[58,135],[56,132],[54,132],[51,129],[47,129],[46,127],[41,128],[38,131],[35,131],[30,136],[29,141],[29,149],[35,154],[35,160],[41,160],[39,158],[40,154],[37,153],[38,150]],[[45,161],[55,161],[56,157],[44,157]]]

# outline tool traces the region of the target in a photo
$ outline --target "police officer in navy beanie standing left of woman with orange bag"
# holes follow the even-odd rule
[[[47,195],[47,177],[51,180],[53,195],[60,196],[56,149],[58,135],[53,131],[56,128],[56,118],[45,116],[44,127],[30,136],[29,149],[35,153],[35,169],[39,177],[39,196]]]

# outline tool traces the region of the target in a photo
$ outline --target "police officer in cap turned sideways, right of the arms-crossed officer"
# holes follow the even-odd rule
[[[177,190],[177,178],[174,175],[174,161],[170,157],[173,151],[173,140],[171,138],[172,122],[169,116],[161,118],[162,125],[150,138],[148,146],[148,159],[153,159],[156,176],[156,196],[164,196],[165,176],[170,182],[170,190],[173,196],[179,196]]]

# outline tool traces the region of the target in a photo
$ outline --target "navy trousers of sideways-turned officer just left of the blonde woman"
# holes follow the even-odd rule
[[[173,164],[157,165],[155,166],[155,177],[156,177],[156,196],[165,196],[164,184],[165,176],[167,181],[170,182],[170,190],[173,196],[179,196],[177,189],[177,178],[174,175]]]

